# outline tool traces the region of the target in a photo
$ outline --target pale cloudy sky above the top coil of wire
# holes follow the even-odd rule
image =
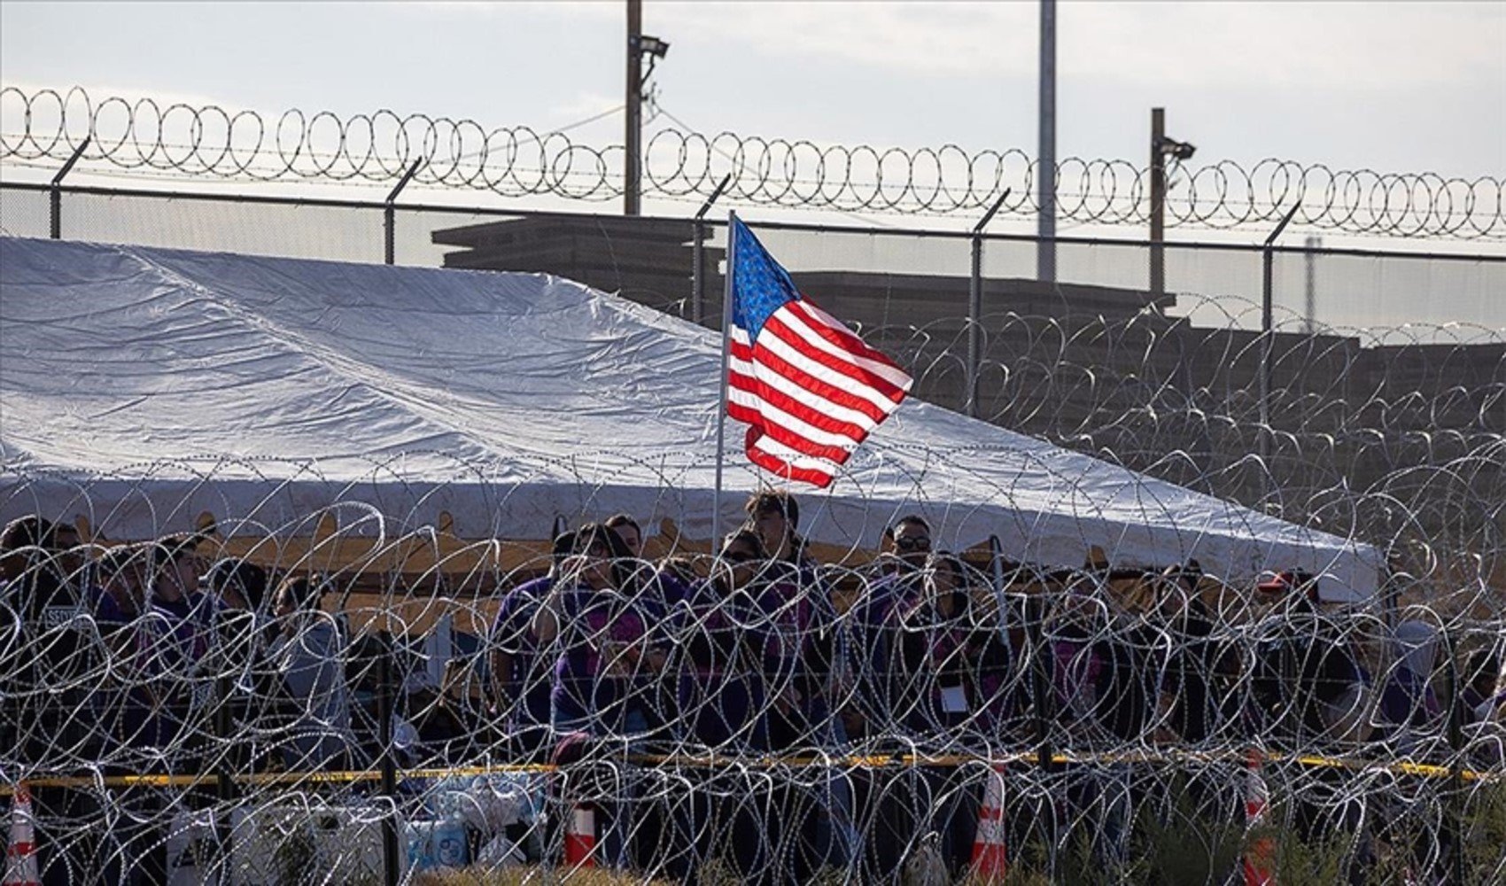
[[[553,128],[622,102],[623,3],[0,5],[6,84]],[[645,3],[663,108],[703,131],[1035,154],[1035,3]],[[1506,172],[1506,5],[1059,9],[1059,155]],[[620,139],[608,118],[572,134]]]

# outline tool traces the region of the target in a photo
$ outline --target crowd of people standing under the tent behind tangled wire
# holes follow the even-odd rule
[[[890,524],[870,564],[837,567],[812,556],[792,496],[755,494],[745,512],[702,558],[646,558],[623,514],[560,535],[542,576],[497,588],[471,660],[480,692],[395,698],[372,663],[396,642],[352,637],[318,576],[206,562],[197,536],[95,548],[66,524],[17,520],[0,535],[5,770],[319,771],[399,750],[565,767],[634,755],[708,773],[718,758],[931,761],[904,793],[860,768],[791,778],[764,814],[726,791],[658,815],[631,784],[589,799],[617,863],[688,875],[723,853],[745,877],[798,881],[854,854],[892,874],[926,833],[962,871],[980,782],[947,755],[1256,746],[1501,764],[1500,637],[1328,612],[1298,571],[1261,582],[1239,624],[1208,606],[1196,564],[980,571],[938,550],[920,515]],[[378,696],[395,725],[375,722]],[[660,863],[654,844],[690,848]]]

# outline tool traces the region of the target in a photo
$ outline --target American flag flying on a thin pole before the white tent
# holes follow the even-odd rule
[[[899,408],[911,378],[803,298],[736,217],[727,264],[727,416],[748,425],[748,461],[825,487],[858,443]]]

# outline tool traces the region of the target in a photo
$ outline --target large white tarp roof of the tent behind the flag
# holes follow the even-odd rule
[[[717,333],[557,277],[0,238],[0,517],[143,538],[364,502],[464,538],[616,511],[706,538],[718,369]],[[761,482],[741,445],[729,422],[724,526]],[[1378,583],[1370,547],[916,399],[848,469],[797,487],[806,535],[873,547],[919,512],[1053,567]]]

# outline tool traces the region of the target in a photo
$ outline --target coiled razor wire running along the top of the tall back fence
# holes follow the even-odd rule
[[[152,98],[92,98],[0,89],[0,160],[62,163],[84,139],[86,167],[226,181],[392,182],[416,161],[416,179],[505,197],[622,196],[623,148],[574,142],[562,131],[486,127],[470,119],[378,110],[340,116],[288,110],[276,119],[218,105]],[[663,128],[648,136],[645,193],[702,199],[723,175],[744,205],[842,212],[967,214],[1001,196],[1001,211],[1038,211],[1039,163],[1018,149],[824,145],[735,133]],[[1125,160],[1057,164],[1057,218],[1145,225],[1151,170]],[[1173,164],[1172,226],[1270,226],[1298,203],[1295,223],[1318,231],[1413,238],[1498,240],[1501,179],[1342,170],[1268,158],[1254,166]],[[1008,194],[1006,194],[1008,191]]]

